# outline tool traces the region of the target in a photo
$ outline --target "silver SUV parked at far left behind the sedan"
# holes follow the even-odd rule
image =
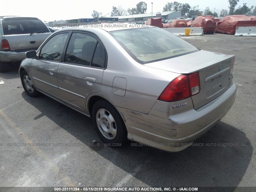
[[[50,34],[38,18],[0,16],[0,72],[25,59],[27,51],[37,50]]]

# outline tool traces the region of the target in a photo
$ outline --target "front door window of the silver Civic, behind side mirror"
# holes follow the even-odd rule
[[[61,33],[53,36],[46,44],[42,47],[39,59],[60,61],[60,54],[66,43],[68,33]]]

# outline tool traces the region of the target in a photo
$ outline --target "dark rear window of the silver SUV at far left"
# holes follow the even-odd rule
[[[50,31],[41,20],[15,19],[2,20],[4,35],[31,34],[34,32],[49,33]]]

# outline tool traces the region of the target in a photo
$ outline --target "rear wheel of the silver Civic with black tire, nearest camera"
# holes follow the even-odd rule
[[[98,100],[92,108],[92,122],[100,139],[110,146],[127,142],[127,130],[116,108],[106,100]]]

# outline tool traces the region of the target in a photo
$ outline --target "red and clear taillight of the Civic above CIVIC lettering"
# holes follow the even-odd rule
[[[164,89],[158,100],[174,102],[189,98],[200,92],[200,79],[198,72],[180,75],[172,80]]]

